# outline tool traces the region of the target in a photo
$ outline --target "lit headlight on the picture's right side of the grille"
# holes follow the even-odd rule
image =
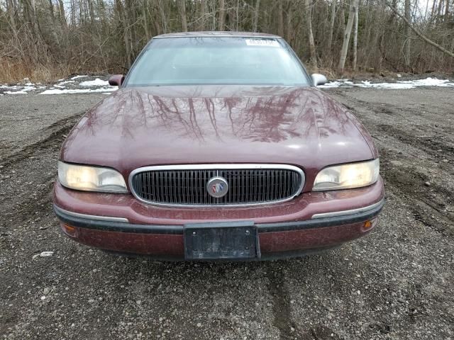
[[[378,179],[380,160],[328,166],[317,174],[314,191],[370,186]]]

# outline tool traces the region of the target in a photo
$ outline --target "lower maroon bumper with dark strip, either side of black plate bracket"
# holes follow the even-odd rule
[[[310,220],[255,223],[260,259],[298,256],[361,237],[377,225],[384,198],[366,207],[323,212]],[[184,225],[131,223],[121,217],[54,211],[68,237],[109,251],[143,254],[158,259],[184,259]]]

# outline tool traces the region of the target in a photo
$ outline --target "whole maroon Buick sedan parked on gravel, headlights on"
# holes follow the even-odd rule
[[[367,234],[384,204],[377,149],[316,89],[325,81],[275,35],[153,38],[62,146],[63,232],[187,260],[298,256]]]

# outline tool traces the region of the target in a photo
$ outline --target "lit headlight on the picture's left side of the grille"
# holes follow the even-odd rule
[[[126,183],[118,171],[99,166],[58,162],[58,180],[62,186],[83,191],[126,193]]]

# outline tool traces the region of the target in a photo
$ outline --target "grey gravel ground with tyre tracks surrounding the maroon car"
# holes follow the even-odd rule
[[[58,152],[105,95],[0,97],[1,339],[454,339],[453,89],[329,92],[380,148],[380,225],[262,263],[129,259],[65,238]]]

